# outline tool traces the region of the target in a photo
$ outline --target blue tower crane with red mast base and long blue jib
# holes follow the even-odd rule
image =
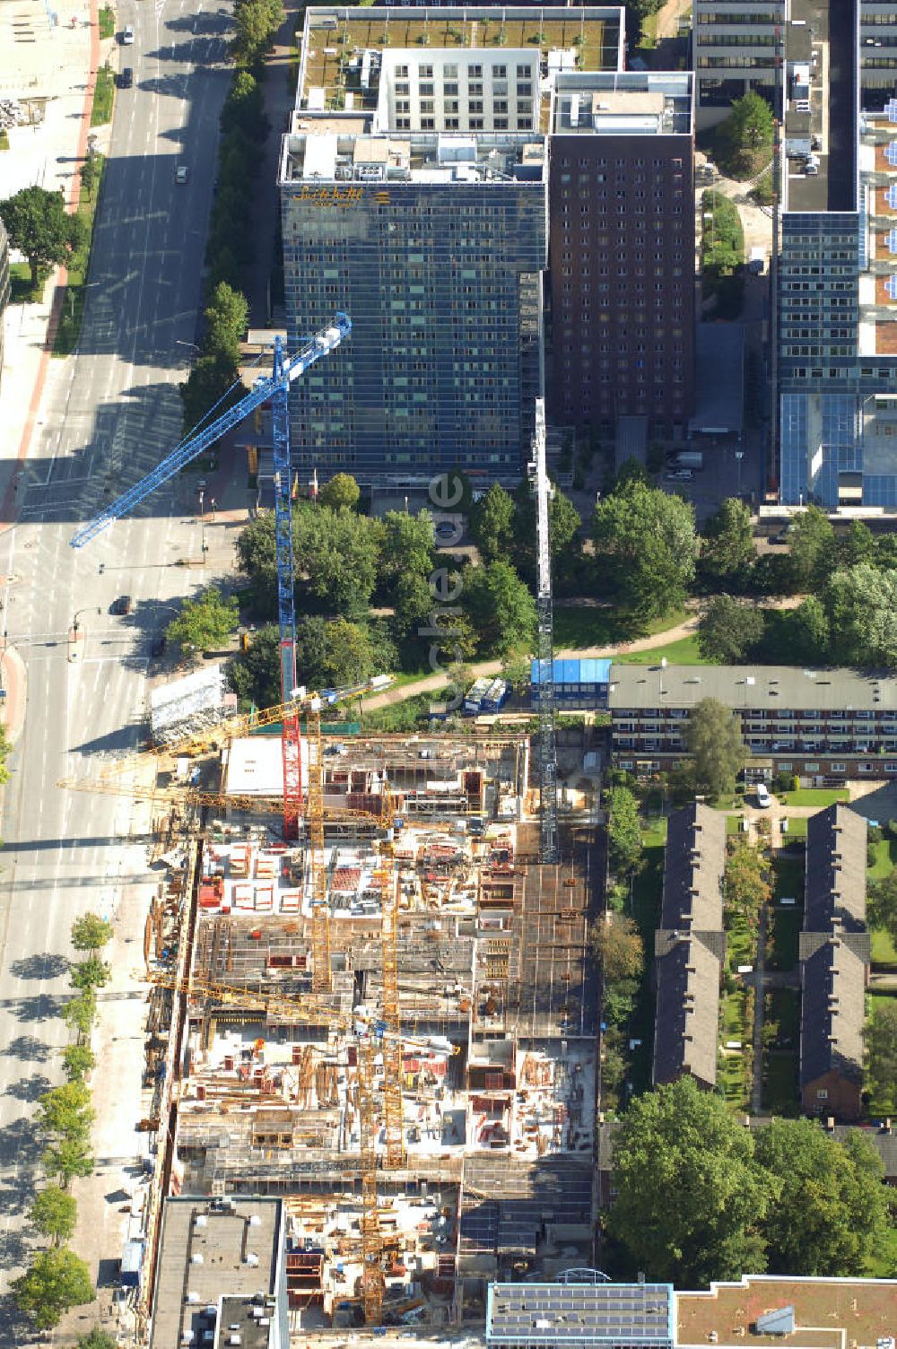
[[[289,391],[309,366],[321,356],[329,355],[352,331],[348,314],[337,313],[329,328],[316,333],[294,356],[285,357],[281,339],[274,344],[274,370],[270,376],[256,380],[251,393],[229,407],[213,422],[187,436],[161,464],[142,478],[139,483],[123,492],[94,519],[71,536],[73,548],[84,548],[113,521],[127,515],[156,487],[167,483],[179,469],[197,459],[204,451],[239,426],[244,417],[271,402],[274,438],[274,519],[277,540],[278,576],[278,623],[281,629],[281,701],[291,703],[297,684],[295,674],[295,604],[293,598],[293,510],[291,510],[291,464],[290,464],[290,420]],[[287,838],[294,838],[298,830],[302,807],[302,761],[299,749],[299,714],[283,718],[283,828]]]

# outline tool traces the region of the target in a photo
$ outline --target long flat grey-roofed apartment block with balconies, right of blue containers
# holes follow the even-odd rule
[[[897,777],[897,681],[789,665],[614,665],[614,761],[638,773],[676,765],[685,757],[691,711],[705,697],[739,716],[754,780],[793,773],[821,786]]]

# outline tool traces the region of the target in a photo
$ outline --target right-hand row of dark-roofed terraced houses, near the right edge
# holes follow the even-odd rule
[[[800,935],[800,1091],[807,1114],[857,1120],[862,1109],[866,822],[830,805],[807,827]]]

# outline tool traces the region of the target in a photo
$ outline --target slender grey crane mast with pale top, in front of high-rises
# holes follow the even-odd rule
[[[554,637],[552,607],[552,540],[549,502],[552,484],[545,467],[545,399],[536,399],[536,432],[530,482],[536,492],[536,607],[538,654],[536,699],[538,712],[540,862],[557,862],[557,738],[554,730]]]

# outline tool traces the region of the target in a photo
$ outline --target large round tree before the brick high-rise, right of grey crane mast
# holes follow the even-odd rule
[[[608,592],[631,622],[646,625],[684,603],[697,557],[689,502],[629,482],[598,505],[592,537]]]

